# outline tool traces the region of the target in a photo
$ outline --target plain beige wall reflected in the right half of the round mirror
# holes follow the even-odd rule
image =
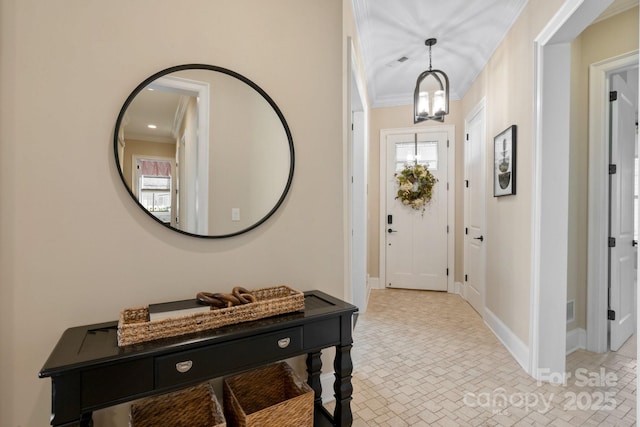
[[[244,82],[224,77],[212,79],[211,97],[208,230],[217,235],[264,218],[282,195],[291,163],[287,135],[271,105]],[[232,221],[233,208],[240,221]]]

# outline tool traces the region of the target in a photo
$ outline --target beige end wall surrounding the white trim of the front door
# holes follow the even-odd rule
[[[368,224],[368,273],[371,277],[380,277],[380,131],[393,128],[423,129],[427,126],[439,126],[442,123],[427,121],[418,125],[413,124],[413,106],[373,108],[369,126],[370,150],[369,150],[369,224]],[[464,211],[462,210],[464,179],[464,117],[462,116],[461,103],[451,101],[449,115],[445,117],[444,125],[456,127],[456,188],[455,188],[455,230],[456,230],[456,281],[461,281],[463,273],[462,242],[464,228]]]

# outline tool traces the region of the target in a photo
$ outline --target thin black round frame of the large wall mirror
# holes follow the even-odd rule
[[[262,97],[269,103],[269,105],[271,105],[273,110],[278,115],[278,118],[280,119],[280,122],[282,123],[282,126],[284,127],[285,133],[287,135],[287,140],[289,142],[289,155],[290,155],[290,158],[291,158],[291,165],[289,167],[289,176],[287,178],[287,184],[285,185],[285,188],[284,188],[282,194],[280,195],[280,198],[278,199],[276,204],[273,206],[273,208],[264,217],[262,217],[260,220],[255,222],[253,225],[251,225],[251,226],[249,226],[247,228],[244,228],[242,230],[239,230],[239,231],[236,231],[236,232],[233,232],[233,233],[229,233],[229,234],[202,235],[202,234],[189,233],[188,231],[180,230],[178,228],[171,227],[170,225],[165,224],[160,219],[155,217],[151,212],[149,212],[144,206],[142,206],[142,204],[138,201],[136,196],[133,194],[133,191],[131,190],[131,188],[129,188],[129,186],[127,185],[127,183],[125,181],[125,178],[124,178],[124,174],[122,172],[122,169],[120,168],[120,162],[119,162],[120,156],[118,155],[118,131],[119,131],[120,126],[122,124],[122,120],[124,119],[124,115],[125,115],[125,113],[127,111],[127,108],[129,107],[129,105],[131,104],[133,99],[136,97],[136,95],[138,95],[150,83],[152,83],[153,81],[157,80],[160,77],[166,76],[166,75],[174,73],[176,71],[183,71],[183,70],[210,70],[210,71],[216,71],[216,72],[227,74],[227,75],[229,75],[231,77],[235,77],[236,79],[240,80],[241,82],[249,85],[256,92],[258,92],[260,95],[262,95]],[[289,189],[291,188],[291,182],[293,180],[293,171],[295,169],[295,151],[294,151],[294,148],[293,148],[293,137],[291,135],[291,130],[289,129],[289,125],[287,124],[287,121],[284,118],[284,115],[282,114],[282,111],[280,111],[280,108],[278,108],[278,106],[273,101],[273,99],[271,99],[271,97],[264,90],[262,90],[262,88],[260,86],[258,86],[253,81],[251,81],[248,78],[246,78],[245,76],[243,76],[241,74],[238,74],[235,71],[231,71],[229,69],[226,69],[226,68],[218,67],[218,66],[215,66],[215,65],[207,65],[207,64],[176,65],[176,66],[173,66],[173,67],[166,68],[166,69],[164,69],[162,71],[159,71],[159,72],[153,74],[152,76],[148,77],[147,79],[145,79],[142,83],[140,83],[133,90],[133,92],[131,92],[129,97],[126,99],[126,101],[124,102],[122,108],[120,109],[120,113],[118,114],[118,119],[116,120],[116,126],[115,126],[115,131],[114,131],[114,136],[113,136],[113,151],[114,151],[114,156],[115,156],[116,169],[118,170],[118,174],[120,175],[120,179],[122,180],[122,183],[124,184],[124,187],[127,189],[127,192],[129,193],[131,198],[134,200],[134,202],[138,205],[138,207],[140,207],[140,209],[142,209],[147,215],[149,215],[151,218],[153,218],[154,221],[160,223],[162,226],[164,226],[164,227],[166,227],[166,228],[168,228],[168,229],[170,229],[172,231],[176,231],[178,233],[185,234],[187,236],[198,237],[198,238],[201,238],[201,239],[222,239],[222,238],[226,238],[226,237],[233,237],[233,236],[237,236],[237,235],[240,235],[240,234],[244,234],[244,233],[246,233],[248,231],[253,230],[254,228],[258,227],[259,225],[262,225],[267,219],[269,219],[278,210],[278,208],[284,202],[284,199],[286,198],[287,194],[289,193]]]

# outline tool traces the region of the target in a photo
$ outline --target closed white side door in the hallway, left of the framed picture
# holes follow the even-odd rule
[[[483,110],[467,124],[464,144],[464,284],[463,296],[482,316],[484,312],[485,254],[485,134]]]

